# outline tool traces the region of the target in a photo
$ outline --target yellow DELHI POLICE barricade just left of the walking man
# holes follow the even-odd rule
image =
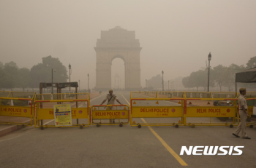
[[[236,125],[237,92],[185,92],[185,98],[185,125]]]

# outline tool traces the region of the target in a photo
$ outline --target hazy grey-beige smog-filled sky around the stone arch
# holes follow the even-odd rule
[[[165,79],[189,76],[206,66],[246,65],[256,56],[256,1],[0,0],[1,62],[19,68],[59,57],[72,65],[72,81],[95,86],[100,31],[116,26],[140,40],[141,85],[164,69]],[[124,76],[124,62],[113,69]],[[118,71],[119,68],[122,70]],[[121,81],[124,84],[124,81]]]

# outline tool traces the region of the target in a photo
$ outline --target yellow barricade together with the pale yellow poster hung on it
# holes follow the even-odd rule
[[[89,93],[37,94],[34,101],[34,126],[45,127],[89,127]],[[76,124],[73,124],[76,119]],[[54,125],[43,124],[54,120]],[[48,121],[48,122],[50,122]],[[83,124],[79,124],[83,122]],[[87,123],[86,123],[87,122]]]

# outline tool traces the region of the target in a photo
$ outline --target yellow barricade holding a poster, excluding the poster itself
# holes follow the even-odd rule
[[[37,128],[44,129],[45,127],[89,127],[89,107],[90,99],[89,93],[59,93],[59,94],[39,94],[36,95],[37,100],[34,101],[35,107],[35,120],[34,125]],[[72,113],[72,123],[76,119],[76,124],[70,126],[56,126],[48,125],[49,122],[54,121],[54,105],[70,105]],[[44,120],[47,123],[44,124]],[[83,124],[80,124],[83,120]],[[87,124],[86,124],[87,122]]]

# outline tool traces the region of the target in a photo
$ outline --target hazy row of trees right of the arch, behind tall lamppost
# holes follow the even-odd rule
[[[222,92],[222,87],[228,87],[229,91],[231,91],[231,89],[236,85],[236,73],[254,67],[256,67],[256,56],[250,58],[248,63],[246,63],[246,67],[244,65],[236,64],[231,64],[228,67],[217,65],[214,68],[210,68],[209,86],[219,87],[220,92]],[[186,88],[196,87],[197,91],[199,87],[203,87],[207,90],[208,68],[190,73],[190,76],[182,79],[182,84]]]

